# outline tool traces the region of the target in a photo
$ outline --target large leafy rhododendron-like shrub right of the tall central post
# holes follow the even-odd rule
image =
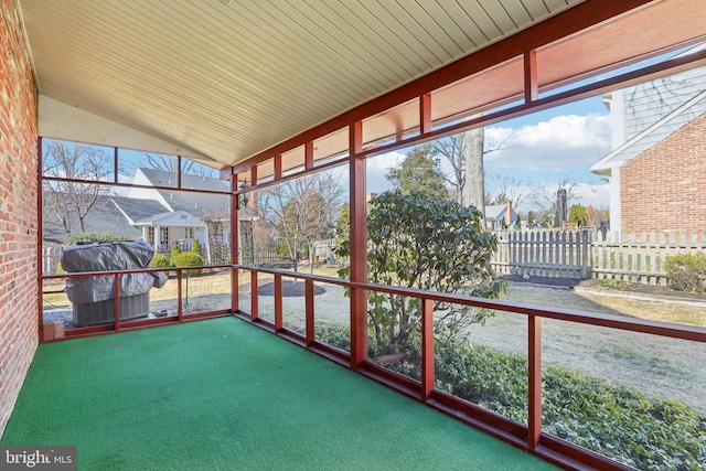
[[[498,246],[482,227],[482,213],[429,193],[399,190],[382,193],[371,203],[367,216],[367,271],[375,283],[439,292],[498,298],[504,281],[490,266]],[[350,245],[341,244],[336,256],[347,258]],[[349,277],[349,268],[339,271]],[[435,303],[437,342],[448,344],[462,336],[472,323],[491,313],[464,306]],[[368,323],[373,331],[371,354],[410,352],[418,347],[421,303],[416,298],[368,293]]]

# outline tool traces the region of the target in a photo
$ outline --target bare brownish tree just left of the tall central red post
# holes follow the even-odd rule
[[[333,235],[342,208],[341,178],[342,173],[313,173],[261,192],[258,211],[285,240],[295,271],[304,250],[312,257],[313,243]]]

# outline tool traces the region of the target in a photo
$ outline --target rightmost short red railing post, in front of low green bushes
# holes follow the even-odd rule
[[[527,315],[528,322],[528,398],[527,447],[539,446],[542,435],[542,318]]]

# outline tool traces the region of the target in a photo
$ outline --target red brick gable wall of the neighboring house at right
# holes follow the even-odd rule
[[[620,170],[622,231],[706,231],[706,114]]]

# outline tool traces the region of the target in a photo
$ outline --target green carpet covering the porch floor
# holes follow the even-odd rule
[[[0,445],[82,470],[542,470],[235,318],[40,345]]]

